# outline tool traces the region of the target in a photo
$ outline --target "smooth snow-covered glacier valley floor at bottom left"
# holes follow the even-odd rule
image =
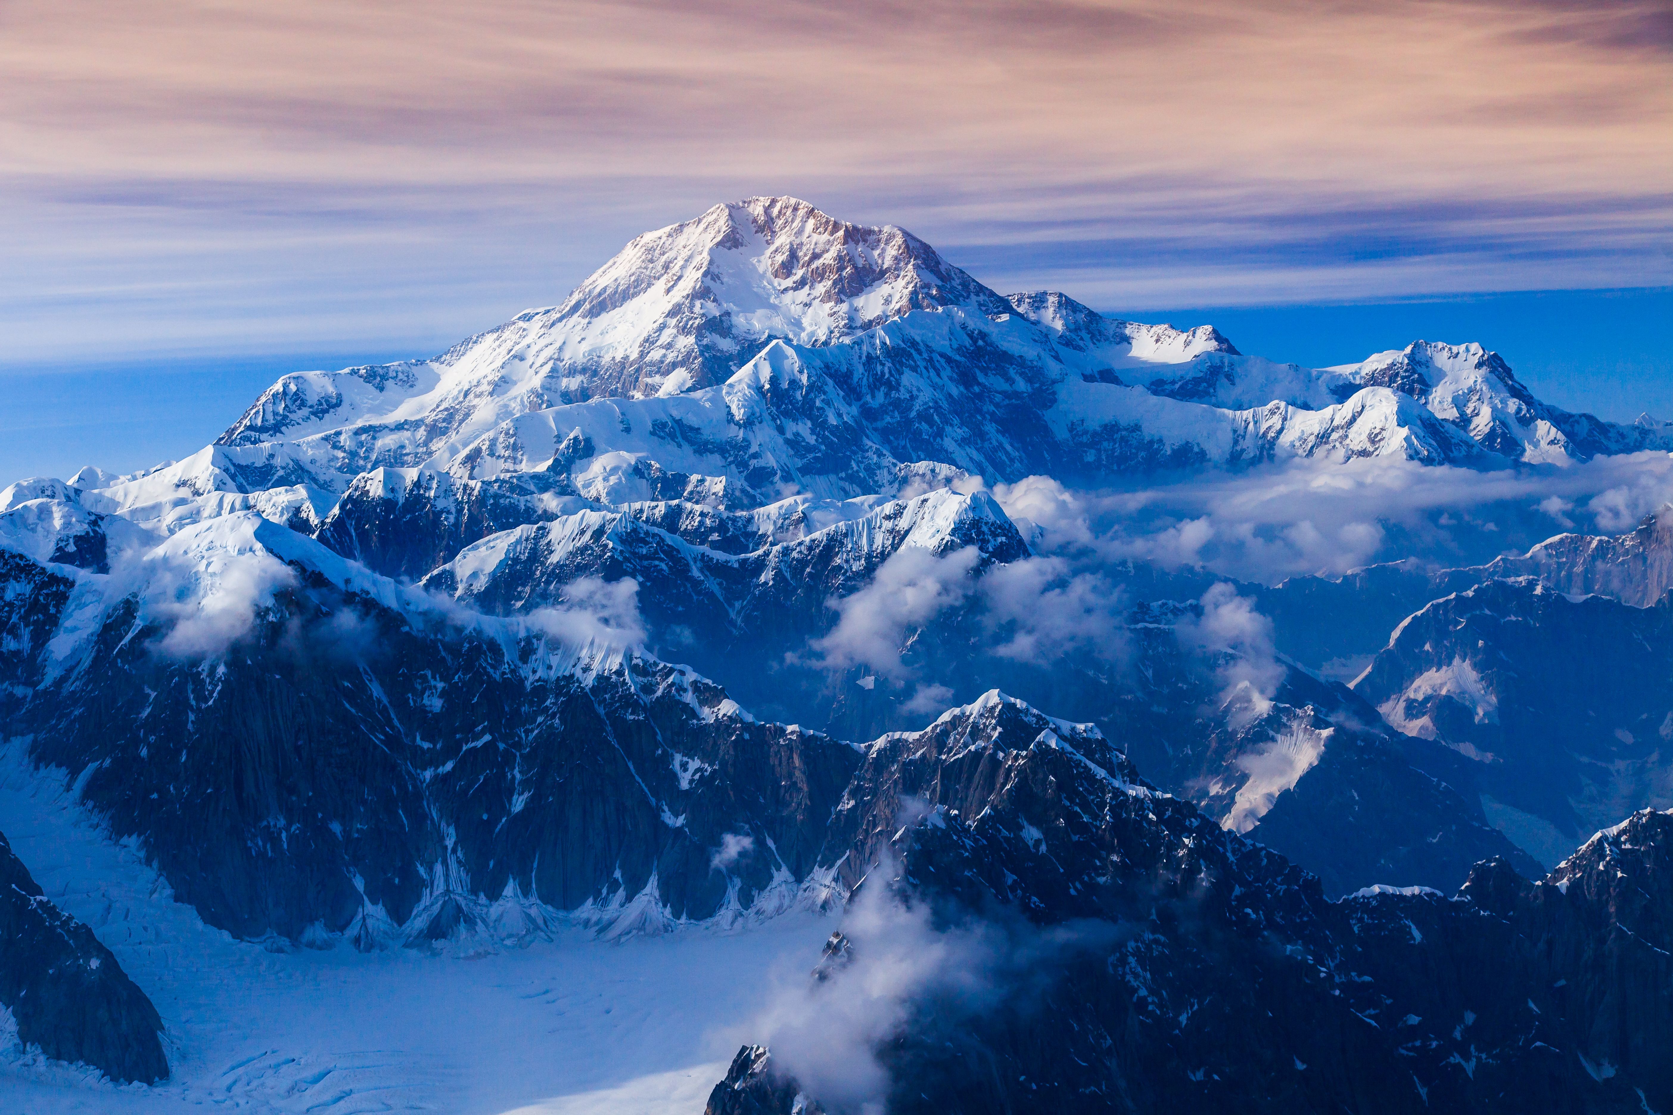
[[[0,831],[55,904],[94,926],[167,1025],[167,1083],[115,1085],[0,1038],[5,1115],[186,1110],[355,1115],[701,1112],[763,1006],[835,919],[602,941],[584,928],[363,955],[269,951],[204,926],[132,846],[17,762]]]

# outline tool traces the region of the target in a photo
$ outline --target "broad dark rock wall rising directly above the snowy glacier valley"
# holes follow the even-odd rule
[[[209,664],[115,608],[18,719],[211,924],[296,938],[323,919],[365,941],[418,913],[402,938],[437,936],[465,918],[432,903],[509,888],[708,918],[811,869],[848,744],[758,724],[651,659],[423,629],[301,575]],[[755,851],[716,869],[726,834]]]

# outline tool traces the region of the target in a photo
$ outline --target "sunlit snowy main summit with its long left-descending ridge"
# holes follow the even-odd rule
[[[820,348],[954,306],[1010,313],[903,229],[750,197],[634,237],[560,306],[524,311],[435,359],[284,376],[219,443],[405,423],[430,445],[550,406],[716,386],[775,339]]]

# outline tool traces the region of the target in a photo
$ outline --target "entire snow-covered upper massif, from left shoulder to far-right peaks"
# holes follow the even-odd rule
[[[286,488],[318,523],[378,468],[550,475],[586,498],[746,508],[877,493],[905,461],[977,476],[1404,456],[1497,466],[1673,446],[1539,403],[1476,344],[1307,369],[1208,326],[1004,299],[893,227],[748,199],[637,237],[560,306],[430,361],[283,378],[212,450],[84,476],[169,522],[211,491]]]

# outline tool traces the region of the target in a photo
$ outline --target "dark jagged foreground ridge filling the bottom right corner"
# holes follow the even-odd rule
[[[873,1050],[887,1110],[1614,1112],[1673,1088],[1640,1038],[1670,1010],[1673,814],[1539,883],[1489,861],[1454,899],[1330,903],[1086,727],[989,699],[873,746],[835,831],[857,863],[897,864],[865,886],[932,909],[940,941],[1010,924],[960,953],[995,973],[984,995],[960,1010],[930,983],[903,1005]],[[828,948],[810,1001],[867,980],[867,946],[883,938]],[[821,1073],[746,1048],[709,1112],[858,1110],[828,1105],[821,1085],[843,1090]]]

